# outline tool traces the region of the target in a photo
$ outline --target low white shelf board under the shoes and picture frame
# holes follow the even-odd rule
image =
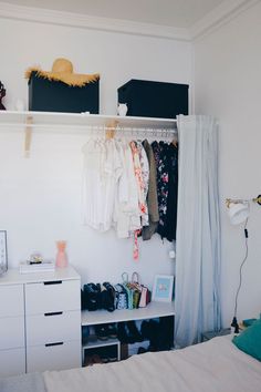
[[[175,316],[174,302],[150,302],[146,308],[124,309],[108,312],[107,310],[82,311],[82,326],[95,326],[107,322],[146,320],[158,317]]]

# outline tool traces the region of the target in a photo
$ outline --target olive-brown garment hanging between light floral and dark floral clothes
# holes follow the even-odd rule
[[[154,152],[152,145],[147,140],[143,142],[144,149],[147,154],[149,177],[148,177],[148,226],[143,227],[143,239],[148,240],[157,230],[159,215],[158,215],[158,196],[157,196],[157,168],[154,158]]]

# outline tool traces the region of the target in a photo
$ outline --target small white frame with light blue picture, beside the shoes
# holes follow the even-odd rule
[[[153,286],[153,301],[171,302],[174,291],[173,275],[156,275]]]

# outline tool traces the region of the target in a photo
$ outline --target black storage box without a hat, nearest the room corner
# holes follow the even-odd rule
[[[176,118],[188,114],[188,84],[132,79],[118,89],[118,103],[126,103],[127,115]]]

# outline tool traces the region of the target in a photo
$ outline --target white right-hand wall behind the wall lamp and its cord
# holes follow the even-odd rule
[[[239,266],[244,255],[243,227],[232,227],[225,198],[261,194],[261,3],[195,43],[196,113],[219,118],[222,219],[223,321],[233,314]],[[249,258],[243,268],[239,319],[261,310],[261,207],[251,206]]]

